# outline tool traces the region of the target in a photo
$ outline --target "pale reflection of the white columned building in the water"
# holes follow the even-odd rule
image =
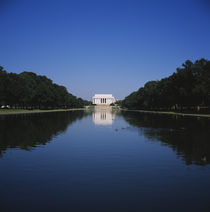
[[[96,125],[112,125],[115,114],[110,107],[95,107],[93,112],[93,122]]]

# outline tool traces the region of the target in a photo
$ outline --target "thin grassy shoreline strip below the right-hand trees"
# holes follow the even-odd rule
[[[210,118],[210,114],[199,114],[199,113],[180,113],[180,112],[172,112],[172,111],[150,111],[150,110],[130,110],[130,109],[121,109],[123,111],[133,111],[140,113],[154,113],[154,114],[165,114],[165,115],[178,115],[178,116],[191,116],[191,117],[202,117],[202,118]]]

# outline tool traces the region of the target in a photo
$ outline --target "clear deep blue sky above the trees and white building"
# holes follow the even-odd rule
[[[210,59],[208,2],[0,0],[0,65],[84,99],[122,99],[187,59]]]

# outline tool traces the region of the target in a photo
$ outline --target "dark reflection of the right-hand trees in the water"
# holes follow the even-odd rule
[[[210,164],[210,119],[122,112],[125,120],[151,140],[172,147],[186,164]]]

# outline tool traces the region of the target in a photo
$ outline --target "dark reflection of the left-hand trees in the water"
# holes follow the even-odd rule
[[[0,117],[0,156],[8,148],[30,150],[45,145],[84,115],[84,111],[70,111]]]

